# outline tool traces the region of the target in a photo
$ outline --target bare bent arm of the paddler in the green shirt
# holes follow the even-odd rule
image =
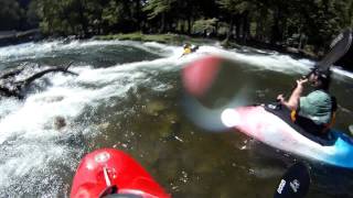
[[[299,107],[299,99],[303,90],[303,84],[306,84],[308,79],[299,79],[297,80],[297,87],[291,92],[290,98],[288,101],[285,100],[282,95],[279,95],[277,99],[286,107],[291,110],[297,110]]]

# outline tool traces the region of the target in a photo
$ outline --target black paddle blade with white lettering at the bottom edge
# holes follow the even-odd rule
[[[299,162],[285,173],[275,191],[274,198],[302,198],[310,186],[310,175],[307,165]]]

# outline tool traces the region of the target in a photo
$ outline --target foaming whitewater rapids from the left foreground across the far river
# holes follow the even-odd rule
[[[247,63],[259,72],[302,75],[314,65],[311,61],[293,59],[276,52],[255,51],[249,55],[244,51],[223,50],[217,44],[200,46],[196,53],[180,58],[181,46],[128,41],[25,43],[1,47],[0,63],[7,67],[19,66],[38,58],[54,58],[57,53],[105,46],[121,46],[121,51],[131,46],[159,58],[118,63],[106,68],[75,63],[71,70],[78,76],[50,74],[36,81],[45,88],[30,92],[24,100],[1,99],[0,195],[57,197],[67,194],[69,180],[58,175],[75,170],[79,157],[89,148],[85,139],[99,133],[99,128],[89,118],[79,117],[87,109],[95,111],[103,105],[109,108],[111,99],[124,100],[139,85],[149,85],[150,89],[160,92],[171,89],[172,85],[158,79],[160,73],[179,72],[190,62],[211,54]],[[57,117],[67,122],[64,131],[54,127]]]

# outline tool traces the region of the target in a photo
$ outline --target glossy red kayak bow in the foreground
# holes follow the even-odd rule
[[[141,165],[122,151],[101,148],[87,154],[76,170],[69,197],[96,198],[113,195],[171,197]]]

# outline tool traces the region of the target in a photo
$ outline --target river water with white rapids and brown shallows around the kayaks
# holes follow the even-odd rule
[[[121,41],[1,47],[1,69],[31,68],[18,79],[72,61],[78,76],[49,74],[24,100],[0,100],[0,197],[67,197],[81,158],[100,147],[129,153],[173,197],[271,197],[300,158],[237,132],[195,125],[182,110],[180,73],[205,54],[231,58],[236,64],[220,96],[239,92],[255,103],[288,94],[314,63],[247,47],[224,51],[217,43],[183,58],[181,53],[180,46]],[[353,120],[352,76],[334,68],[335,128],[342,131]],[[55,129],[57,117],[64,129]],[[306,163],[312,173],[308,197],[353,197],[350,170]]]

